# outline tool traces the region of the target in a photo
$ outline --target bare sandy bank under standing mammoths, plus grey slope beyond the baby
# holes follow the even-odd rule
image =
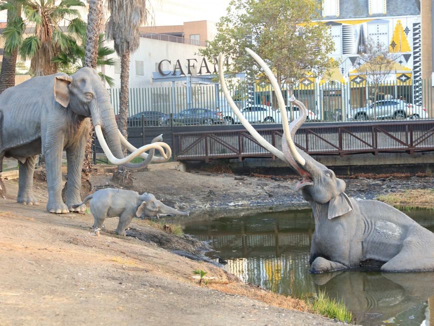
[[[292,181],[237,181],[233,175],[217,178],[176,171],[136,174],[135,178],[134,187],[143,188],[138,190],[192,210],[219,207],[207,203],[221,203],[213,198],[225,195],[241,203],[232,206],[244,205],[249,196],[259,202],[274,200],[268,191],[284,192],[292,186]],[[243,182],[252,184],[243,187]],[[96,176],[93,183],[107,186],[110,176]],[[320,316],[275,307],[303,308],[298,301],[244,285],[214,265],[115,236],[110,230],[116,228],[116,218],[106,221],[108,232],[96,236],[90,230],[93,218],[89,214],[49,214],[42,182],[35,182],[39,206],[17,204],[17,180],[5,184],[7,197],[0,202],[2,326],[336,325]],[[147,231],[139,219],[131,226]],[[199,285],[192,278],[197,269],[222,284]]]

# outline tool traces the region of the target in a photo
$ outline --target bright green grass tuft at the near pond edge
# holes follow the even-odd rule
[[[343,323],[351,323],[353,314],[345,307],[342,301],[330,299],[325,291],[319,291],[316,298],[309,303],[309,308],[313,313],[337,319]]]

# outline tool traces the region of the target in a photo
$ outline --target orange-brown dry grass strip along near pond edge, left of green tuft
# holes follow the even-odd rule
[[[229,283],[228,285],[209,284],[208,287],[226,294],[244,296],[250,299],[262,301],[263,303],[274,307],[298,310],[302,312],[309,311],[309,307],[303,300],[285,297],[252,285],[234,282]]]

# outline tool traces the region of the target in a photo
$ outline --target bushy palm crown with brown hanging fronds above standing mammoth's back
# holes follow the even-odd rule
[[[26,37],[19,49],[22,60],[31,59],[30,68],[36,76],[57,72],[53,57],[66,51],[75,39],[84,34],[86,24],[75,6],[84,6],[80,0],[25,0],[22,11],[31,28],[32,35]],[[69,20],[68,33],[60,27],[62,20]]]

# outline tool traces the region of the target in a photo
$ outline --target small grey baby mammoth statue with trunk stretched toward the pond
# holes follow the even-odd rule
[[[163,204],[153,194],[143,193],[139,195],[132,190],[106,188],[87,196],[80,206],[90,200],[90,211],[94,218],[94,229],[101,229],[107,217],[119,216],[119,224],[116,233],[125,235],[125,229],[134,216],[140,217],[160,215],[189,215]]]

